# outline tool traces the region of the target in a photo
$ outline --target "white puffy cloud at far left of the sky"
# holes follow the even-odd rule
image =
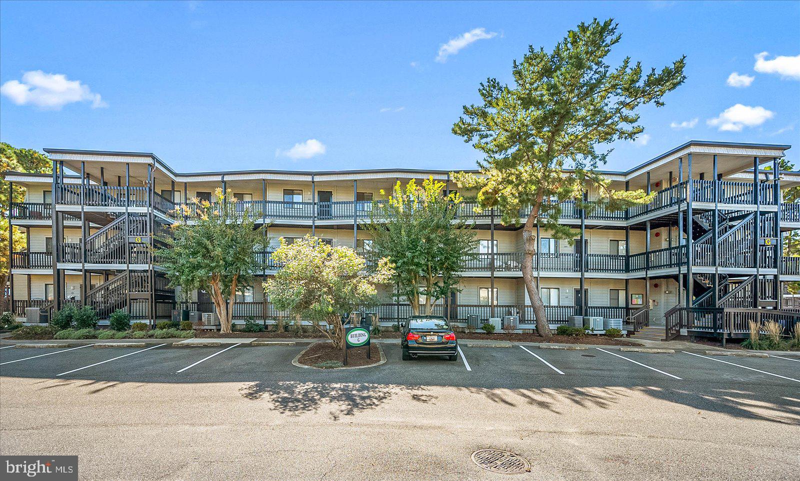
[[[42,70],[22,74],[22,81],[6,81],[0,86],[0,93],[17,105],[36,105],[47,110],[60,110],[74,102],[91,102],[92,109],[108,106],[89,85],[68,80],[64,74],[45,74]]]

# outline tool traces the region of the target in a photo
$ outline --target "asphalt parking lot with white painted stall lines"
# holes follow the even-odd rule
[[[525,455],[538,479],[740,479],[753,467],[791,479],[800,468],[796,355],[465,344],[457,362],[402,361],[398,345],[381,345],[385,364],[333,371],[291,364],[307,344],[3,345],[0,447],[77,453],[86,479],[110,479],[105,462],[119,479],[241,479],[254,466],[262,479],[339,479],[346,460],[365,477],[389,464],[405,479],[418,475],[404,463],[430,456],[449,459],[439,478],[482,479],[491,474],[469,462],[481,447]],[[109,461],[107,443],[150,454]]]

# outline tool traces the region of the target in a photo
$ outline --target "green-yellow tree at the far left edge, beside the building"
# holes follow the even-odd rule
[[[0,172],[52,173],[53,164],[43,153],[34,149],[17,149],[6,142],[0,142]],[[11,228],[8,211],[12,202],[25,201],[25,188],[14,185],[9,192],[9,182],[0,179],[0,289],[6,286],[9,276],[11,252],[8,237],[14,236],[14,251],[25,250],[26,237],[22,229]]]

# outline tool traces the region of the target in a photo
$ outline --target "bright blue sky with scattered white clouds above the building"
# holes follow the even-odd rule
[[[478,83],[594,17],[619,23],[614,62],[687,56],[607,169],[690,139],[794,145],[800,169],[800,2],[4,1],[0,139],[178,171],[471,169],[450,129]]]

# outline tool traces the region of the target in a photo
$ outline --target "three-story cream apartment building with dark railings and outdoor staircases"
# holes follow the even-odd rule
[[[614,189],[646,189],[656,193],[654,201],[618,212],[587,212],[565,202],[562,223],[574,228],[572,243],[537,230],[534,273],[550,322],[563,324],[574,315],[620,318],[634,330],[665,326],[670,337],[684,328],[717,332],[714,322],[733,309],[779,310],[782,283],[800,280],[800,259],[782,256],[782,234],[800,229],[800,205],[782,201],[784,190],[800,185],[800,173],[778,169],[789,148],[689,141],[624,172],[604,172]],[[10,256],[18,316],[26,308],[52,311],[66,303],[92,305],[102,318],[124,308],[150,321],[169,318],[178,305],[212,312],[206,292],[167,287],[150,244],[174,221],[177,206],[193,197],[215,201],[218,188],[233,191],[242,212],[269,226],[270,242],[254,252],[261,278],[279,268],[270,252],[280,237],[311,233],[368,249],[359,224],[397,181],[433,176],[458,189],[440,170],[177,173],[152,153],[45,151],[58,168],[53,175],[3,173],[27,192],[9,212],[11,224],[28,234],[26,249]],[[591,201],[594,193],[587,195]],[[478,256],[462,273],[460,291],[434,313],[456,321],[516,314],[522,328],[532,328],[521,225],[502,225],[494,213],[475,213],[475,207],[466,201],[459,215],[474,225]],[[391,289],[382,287],[376,308],[384,323],[410,313]],[[260,280],[238,292],[235,320],[281,315],[265,299]],[[738,316],[732,334],[746,332],[747,315]]]

